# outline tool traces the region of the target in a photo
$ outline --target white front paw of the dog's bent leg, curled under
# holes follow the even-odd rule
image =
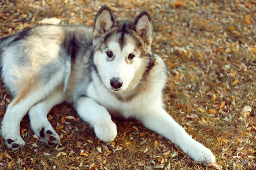
[[[116,124],[112,121],[106,124],[94,125],[94,131],[96,136],[103,142],[111,142],[117,135]]]

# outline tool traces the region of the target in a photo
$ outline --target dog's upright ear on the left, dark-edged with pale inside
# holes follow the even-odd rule
[[[94,20],[94,38],[96,36],[99,36],[100,34],[104,34],[106,31],[114,26],[116,26],[116,21],[112,10],[107,5],[102,6]]]

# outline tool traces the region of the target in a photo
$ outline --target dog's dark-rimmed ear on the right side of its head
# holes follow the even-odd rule
[[[148,11],[143,11],[136,17],[134,29],[144,40],[144,43],[150,46],[153,40],[154,26]]]

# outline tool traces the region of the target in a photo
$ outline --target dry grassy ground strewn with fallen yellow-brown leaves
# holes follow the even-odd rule
[[[194,139],[212,150],[220,166],[196,164],[175,144],[137,121],[114,120],[118,136],[105,144],[64,103],[48,115],[61,145],[40,143],[24,117],[21,135],[26,146],[11,151],[0,138],[0,169],[254,170],[256,1],[3,0],[0,37],[52,17],[62,19],[62,24],[92,26],[103,4],[122,20],[132,20],[142,10],[151,13],[152,48],[170,71],[163,93],[166,109]],[[12,97],[2,80],[0,85],[2,121]]]

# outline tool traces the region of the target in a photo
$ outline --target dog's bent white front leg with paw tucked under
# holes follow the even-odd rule
[[[89,97],[81,97],[76,103],[78,115],[94,127],[96,136],[104,141],[110,142],[116,138],[116,124],[105,107]]]

